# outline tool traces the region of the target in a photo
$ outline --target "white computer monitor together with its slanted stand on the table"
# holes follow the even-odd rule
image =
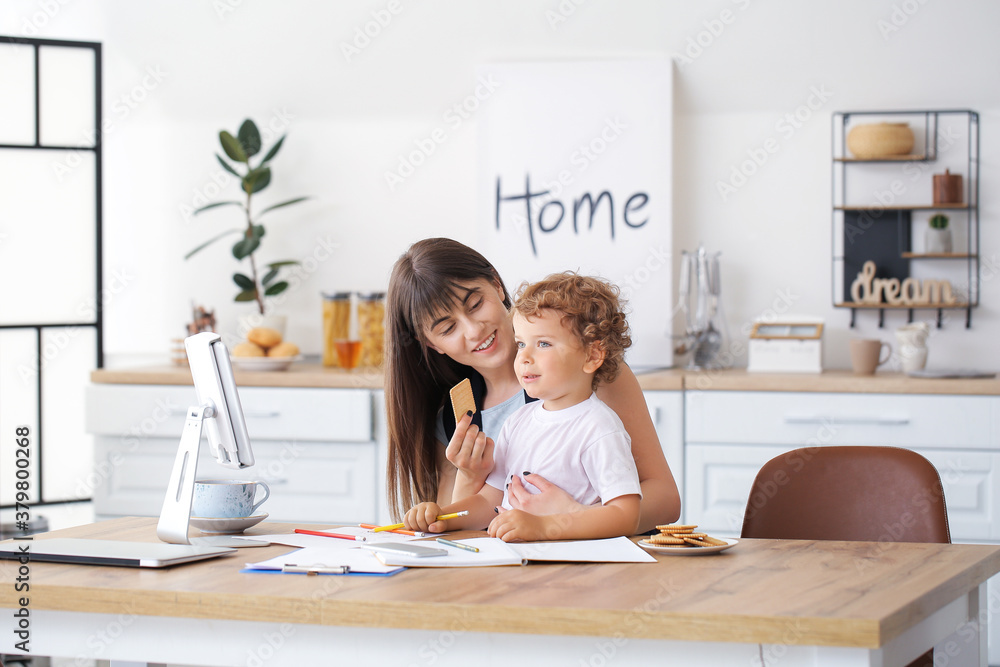
[[[177,457],[167,483],[156,535],[172,544],[212,544],[215,546],[261,546],[226,537],[188,538],[191,503],[198,472],[198,449],[203,427],[209,447],[220,465],[248,468],[253,465],[250,436],[243,418],[243,406],[236,391],[236,378],[229,361],[229,351],[222,337],[210,331],[185,339],[191,378],[198,404],[188,408],[181,432]]]

